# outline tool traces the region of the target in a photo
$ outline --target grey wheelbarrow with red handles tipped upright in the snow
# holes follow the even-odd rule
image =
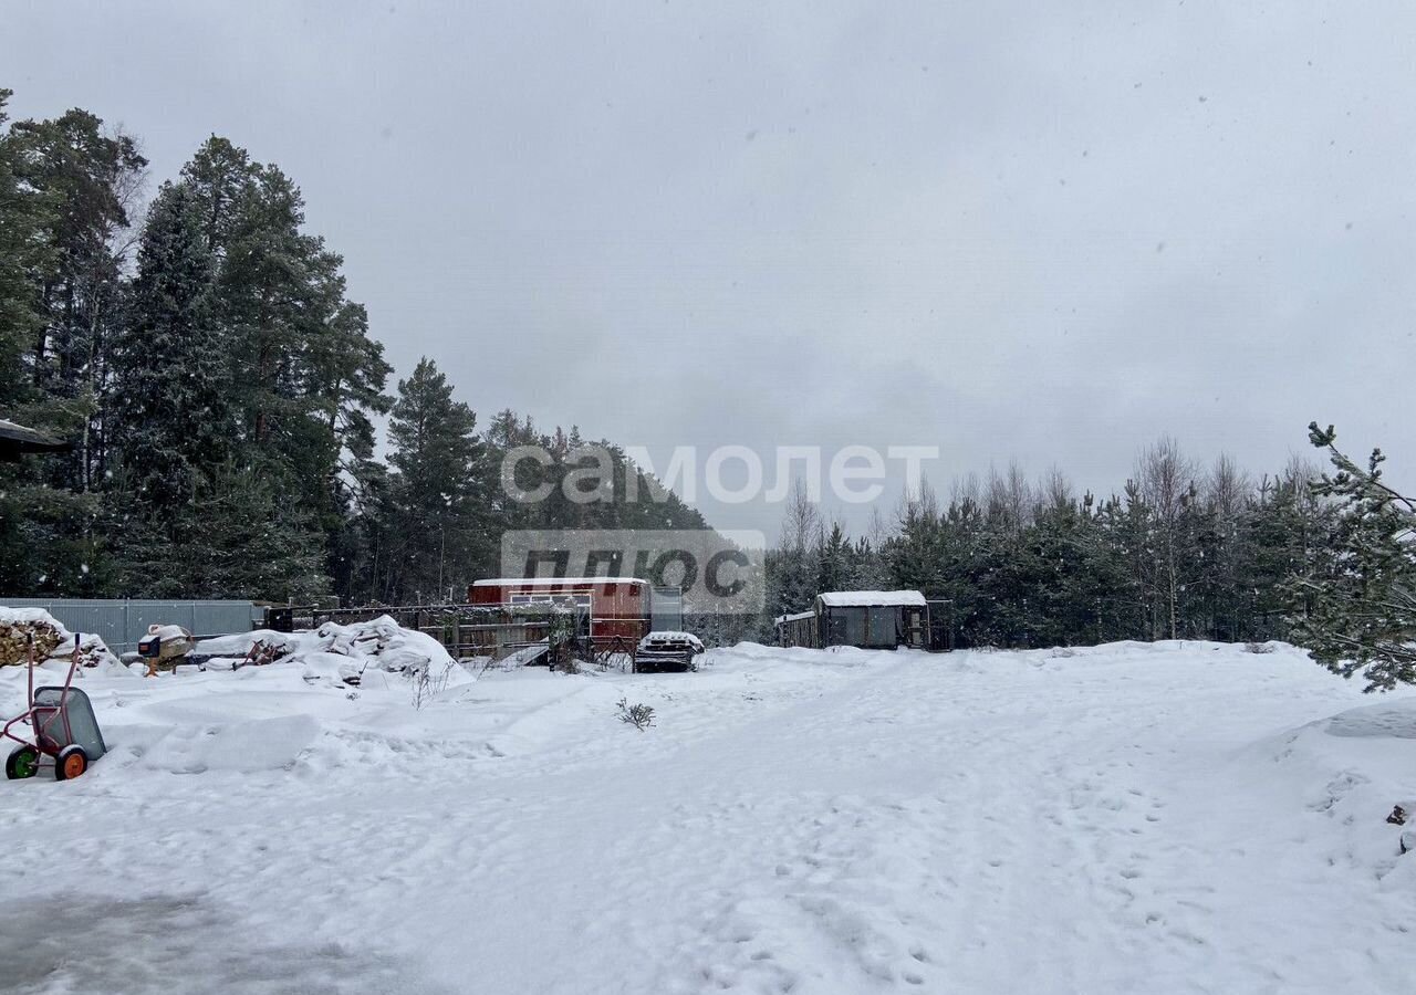
[[[41,688],[34,686],[34,638],[27,643],[28,706],[0,729],[0,739],[13,739],[20,744],[6,759],[4,774],[10,780],[34,777],[41,764],[52,761],[54,778],[68,781],[108,753],[93,705],[86,694],[74,686],[79,668],[79,637],[74,637],[74,657],[64,684]],[[23,726],[30,727],[28,736],[16,732]]]

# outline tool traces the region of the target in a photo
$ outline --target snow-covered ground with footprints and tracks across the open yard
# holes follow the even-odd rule
[[[1066,652],[743,645],[422,711],[89,672],[110,754],[0,783],[0,988],[1416,991],[1383,821],[1416,698],[1287,648]]]

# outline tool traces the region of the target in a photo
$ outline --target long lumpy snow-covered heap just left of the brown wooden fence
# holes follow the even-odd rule
[[[404,628],[391,617],[350,626],[324,623],[314,631],[276,633],[258,628],[236,635],[202,640],[197,652],[217,657],[242,658],[262,643],[276,650],[282,662],[303,665],[333,664],[341,672],[365,668],[392,674],[426,674],[432,678],[447,675],[456,662],[432,635]]]

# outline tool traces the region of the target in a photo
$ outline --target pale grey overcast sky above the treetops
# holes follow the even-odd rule
[[[483,422],[1110,491],[1315,418],[1410,485],[1413,52],[1403,3],[44,1],[0,86],[154,184],[212,132],[282,166]]]

